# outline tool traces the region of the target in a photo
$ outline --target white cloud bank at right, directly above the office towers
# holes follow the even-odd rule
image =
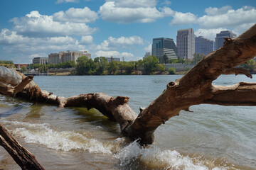
[[[198,17],[193,13],[174,11],[171,26],[198,24],[200,29],[195,31],[197,36],[214,40],[216,33],[221,30],[232,30],[240,35],[256,23],[256,9],[252,6],[242,6],[234,10],[231,6],[222,8],[209,7],[205,9],[206,15]],[[199,34],[200,33],[200,34]]]

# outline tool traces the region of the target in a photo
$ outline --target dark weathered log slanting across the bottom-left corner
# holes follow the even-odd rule
[[[7,152],[13,157],[14,161],[26,170],[43,170],[43,166],[39,164],[36,157],[33,156],[28,150],[22,147],[17,140],[14,139],[3,125],[0,124],[0,145],[6,149]]]

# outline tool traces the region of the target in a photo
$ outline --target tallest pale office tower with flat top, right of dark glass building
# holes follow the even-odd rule
[[[195,54],[195,35],[192,28],[177,31],[178,57],[193,59]]]

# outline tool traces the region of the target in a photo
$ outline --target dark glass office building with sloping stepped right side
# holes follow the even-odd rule
[[[177,47],[174,39],[171,38],[153,38],[152,55],[158,59],[167,55],[169,59],[177,58]]]

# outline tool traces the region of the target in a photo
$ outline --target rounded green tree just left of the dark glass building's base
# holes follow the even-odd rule
[[[154,56],[149,55],[148,57],[145,57],[143,60],[143,64],[144,64],[144,69],[146,73],[147,74],[154,73],[157,69],[158,62],[159,61],[155,55]]]

